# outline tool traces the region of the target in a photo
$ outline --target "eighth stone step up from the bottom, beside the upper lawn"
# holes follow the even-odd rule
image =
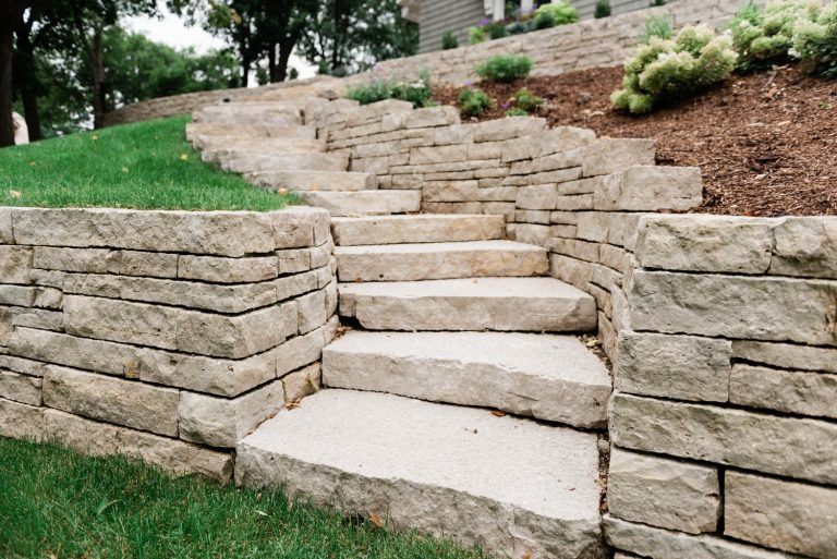
[[[255,171],[345,171],[349,156],[345,154],[251,154],[247,151],[213,151],[205,159],[216,161],[225,171],[248,173]]]

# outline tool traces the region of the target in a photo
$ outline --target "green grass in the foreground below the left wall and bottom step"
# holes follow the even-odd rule
[[[124,458],[0,438],[0,557],[37,559],[482,558],[281,493],[171,477]]]

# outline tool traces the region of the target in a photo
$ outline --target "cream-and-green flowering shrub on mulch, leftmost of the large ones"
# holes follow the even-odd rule
[[[611,100],[618,109],[640,114],[660,100],[678,99],[724,81],[737,54],[727,36],[705,25],[683,27],[674,39],[652,37],[624,64],[622,89]]]

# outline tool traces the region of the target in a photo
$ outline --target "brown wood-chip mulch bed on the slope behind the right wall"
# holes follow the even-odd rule
[[[621,76],[621,68],[611,68],[476,84],[498,100],[478,120],[502,118],[500,105],[526,87],[546,100],[538,114],[550,125],[656,138],[659,165],[700,167],[704,204],[699,211],[837,215],[837,80],[783,66],[735,75],[693,99],[631,117],[610,105]],[[439,86],[435,100],[456,105],[459,92]]]

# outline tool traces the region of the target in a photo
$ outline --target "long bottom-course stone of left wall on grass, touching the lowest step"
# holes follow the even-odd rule
[[[126,454],[177,474],[201,474],[226,484],[232,455],[187,442],[46,410],[45,436],[85,454]]]

